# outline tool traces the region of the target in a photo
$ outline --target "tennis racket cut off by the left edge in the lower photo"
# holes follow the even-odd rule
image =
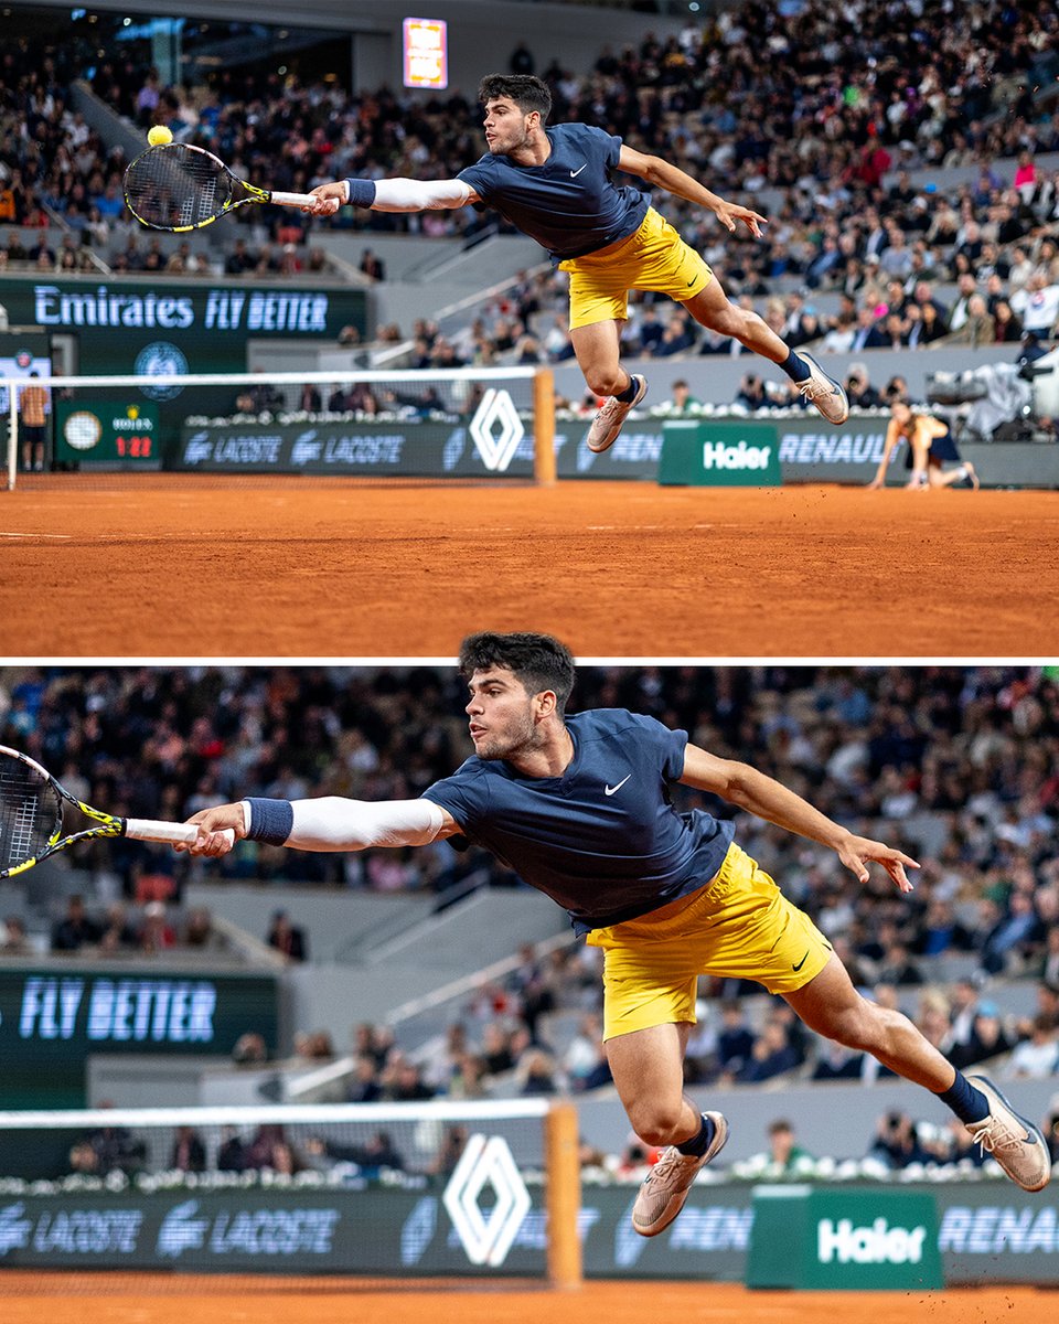
[[[98,826],[64,837],[65,805],[79,809]],[[21,874],[78,841],[130,837],[132,841],[191,845],[197,835],[199,829],[191,824],[116,818],[93,809],[61,786],[28,755],[0,745],[0,878]]]

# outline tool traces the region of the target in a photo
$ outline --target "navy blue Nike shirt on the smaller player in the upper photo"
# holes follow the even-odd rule
[[[516,166],[486,152],[458,177],[556,262],[635,234],[651,199],[612,181],[621,138],[590,124],[555,124],[544,132],[552,151],[543,166]]]

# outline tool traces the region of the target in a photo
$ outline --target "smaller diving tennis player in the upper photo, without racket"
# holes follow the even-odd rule
[[[794,354],[753,311],[729,303],[703,258],[651,207],[650,193],[612,180],[635,175],[651,188],[714,212],[735,230],[760,238],[764,216],[725,203],[659,156],[626,147],[589,124],[545,127],[548,85],[528,74],[490,74],[478,97],[486,109],[488,151],[455,179],[342,179],[312,189],[312,212],[331,216],[344,203],[376,212],[420,212],[484,204],[545,248],[569,273],[571,340],[589,389],[609,397],[588,433],[589,449],[614,444],[629,410],[647,392],[620,363],[629,290],[667,294],[702,326],[732,336],[778,364],[829,422],[845,422],[846,393],[815,359]]]

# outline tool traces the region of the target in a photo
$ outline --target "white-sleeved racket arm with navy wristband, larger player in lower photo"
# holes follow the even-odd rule
[[[200,828],[193,855],[224,855],[244,837],[295,850],[367,850],[369,846],[426,846],[459,826],[430,800],[266,800],[250,797],[192,814]],[[228,837],[225,829],[232,829]]]

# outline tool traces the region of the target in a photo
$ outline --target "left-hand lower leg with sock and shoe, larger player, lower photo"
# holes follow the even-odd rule
[[[606,1057],[633,1131],[649,1145],[666,1145],[643,1180],[633,1227],[655,1237],[684,1207],[699,1170],[720,1153],[728,1123],[699,1112],[684,1095],[684,1050],[691,1026],[655,1025],[608,1039]]]

